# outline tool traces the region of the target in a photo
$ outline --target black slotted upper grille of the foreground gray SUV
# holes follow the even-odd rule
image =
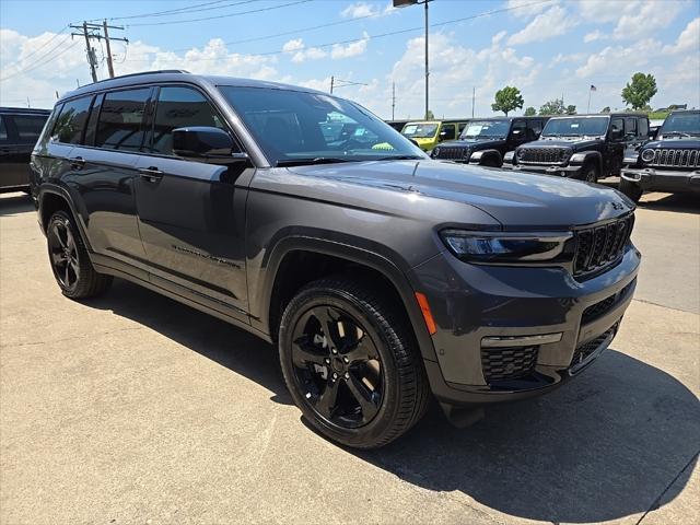
[[[575,232],[574,276],[583,276],[616,262],[630,240],[634,215]]]

